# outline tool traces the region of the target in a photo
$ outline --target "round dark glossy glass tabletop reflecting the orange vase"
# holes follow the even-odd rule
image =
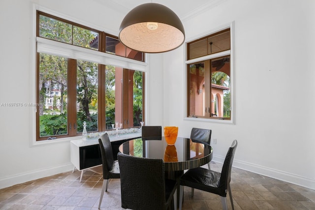
[[[212,148],[206,143],[177,137],[174,145],[167,145],[164,137],[157,139],[133,139],[122,144],[119,151],[137,157],[163,159],[165,171],[197,168],[212,159]]]

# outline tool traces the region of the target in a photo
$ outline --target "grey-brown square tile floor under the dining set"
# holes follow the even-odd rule
[[[221,164],[211,167],[221,171]],[[79,179],[80,172],[70,171],[0,189],[0,210],[97,210],[102,176],[87,171]],[[315,210],[315,190],[236,168],[231,189],[235,210]],[[189,187],[184,199],[184,210],[222,209],[219,196],[195,190],[191,198]],[[101,210],[121,209],[120,180],[111,180]]]

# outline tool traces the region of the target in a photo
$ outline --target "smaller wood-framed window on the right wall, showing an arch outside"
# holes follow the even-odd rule
[[[187,117],[231,119],[230,29],[187,44]]]

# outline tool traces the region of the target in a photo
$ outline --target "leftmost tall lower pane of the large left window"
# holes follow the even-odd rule
[[[66,58],[39,54],[39,90],[37,96],[40,106],[37,107],[37,113],[41,137],[64,135],[68,132],[67,66],[68,60]],[[56,95],[54,92],[58,92],[58,94]]]

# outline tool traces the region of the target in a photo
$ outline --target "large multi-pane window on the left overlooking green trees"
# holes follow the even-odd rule
[[[143,53],[127,49],[112,35],[39,11],[36,34],[53,40],[50,46],[58,46],[58,50],[37,51],[37,141],[80,135],[84,121],[88,132],[112,129],[115,122],[123,123],[123,128],[140,126],[144,116],[144,72],[89,58],[104,49],[102,53],[144,61]],[[83,59],[58,53],[68,45],[88,50]]]

